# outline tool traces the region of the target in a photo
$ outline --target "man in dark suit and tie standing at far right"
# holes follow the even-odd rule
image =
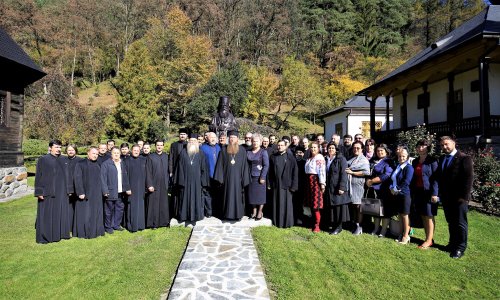
[[[474,169],[472,158],[456,149],[454,138],[443,136],[440,144],[444,155],[439,159],[437,172],[439,197],[450,232],[450,256],[460,258],[467,248],[467,212]]]

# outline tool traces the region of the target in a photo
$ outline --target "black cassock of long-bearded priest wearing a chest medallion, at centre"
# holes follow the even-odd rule
[[[214,179],[223,185],[222,217],[241,219],[245,214],[245,187],[250,183],[247,154],[243,147],[240,146],[234,155],[227,153],[226,147],[219,152]]]

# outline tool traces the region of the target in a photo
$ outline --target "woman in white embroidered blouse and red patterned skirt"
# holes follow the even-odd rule
[[[311,208],[314,217],[313,232],[319,232],[321,221],[320,209],[323,208],[323,193],[326,186],[326,163],[323,155],[319,153],[320,145],[312,143],[311,157],[306,161],[306,203]]]

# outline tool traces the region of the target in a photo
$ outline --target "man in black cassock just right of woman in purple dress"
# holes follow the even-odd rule
[[[295,156],[287,151],[284,141],[279,141],[277,152],[269,160],[269,189],[273,194],[272,221],[276,227],[293,226],[293,193],[297,191],[298,167]]]

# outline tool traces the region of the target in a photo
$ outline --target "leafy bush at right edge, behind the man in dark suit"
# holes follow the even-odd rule
[[[492,148],[470,153],[474,160],[472,195],[488,213],[500,213],[500,161]]]

